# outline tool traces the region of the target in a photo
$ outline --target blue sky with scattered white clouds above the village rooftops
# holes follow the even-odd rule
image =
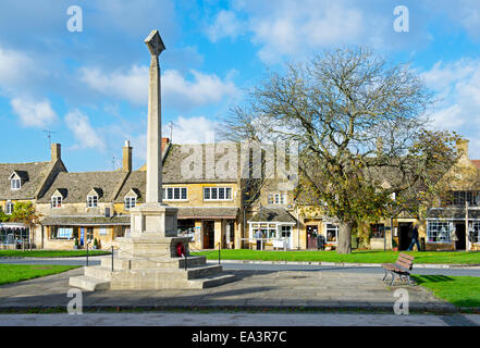
[[[71,5],[82,32],[67,29]],[[409,10],[407,33],[393,28],[397,5]],[[71,172],[119,167],[126,139],[140,166],[151,29],[167,46],[163,133],[172,122],[174,142],[211,137],[268,70],[364,45],[410,61],[439,99],[432,127],[457,130],[480,158],[478,0],[2,0],[0,162],[48,160],[48,129]]]

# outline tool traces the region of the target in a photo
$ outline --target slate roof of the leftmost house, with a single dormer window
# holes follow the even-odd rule
[[[0,199],[36,198],[53,165],[54,162],[0,163]],[[20,189],[11,189],[9,178],[13,172],[22,177]]]

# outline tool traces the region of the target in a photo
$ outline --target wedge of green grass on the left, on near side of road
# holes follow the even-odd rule
[[[78,265],[0,264],[0,285],[62,273]]]

